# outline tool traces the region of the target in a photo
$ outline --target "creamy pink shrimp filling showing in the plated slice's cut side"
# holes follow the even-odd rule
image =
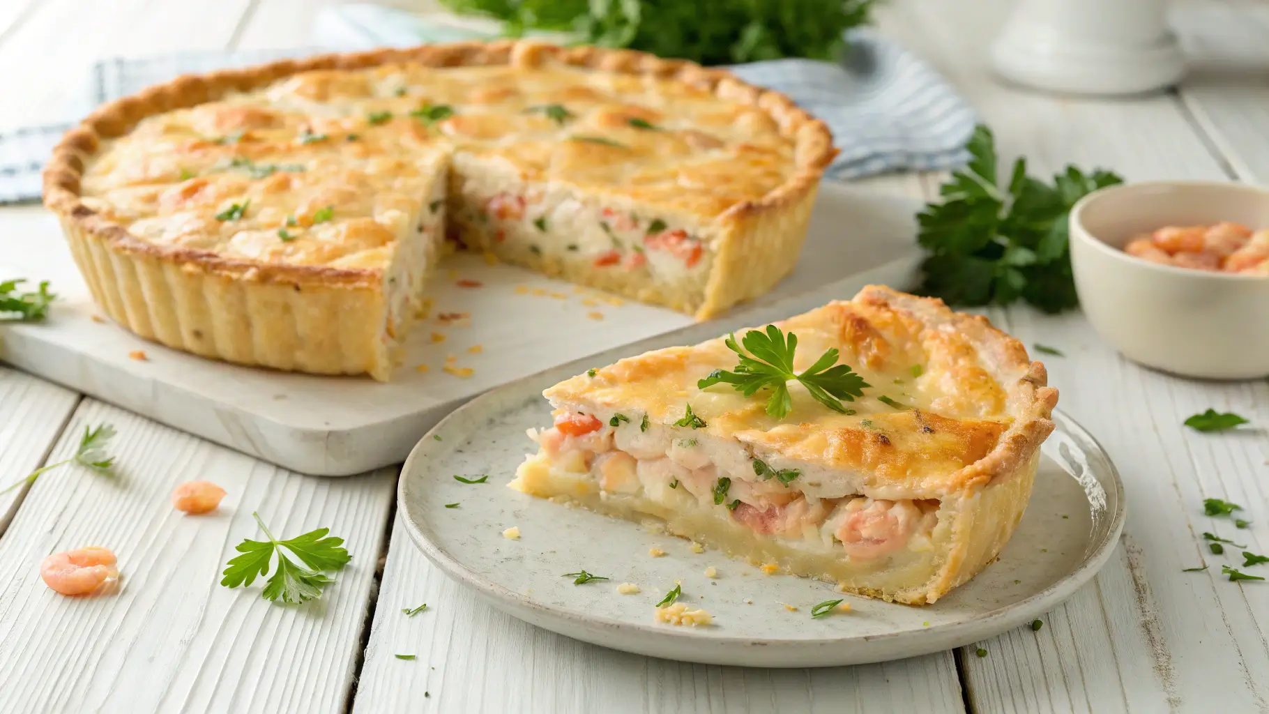
[[[591,481],[602,498],[708,511],[755,535],[840,549],[850,561],[933,550],[937,500],[807,493],[796,469],[775,469],[739,444],[728,450],[684,431],[574,412],[529,436],[552,468]]]

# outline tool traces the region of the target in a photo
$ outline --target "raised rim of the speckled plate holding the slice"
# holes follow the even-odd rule
[[[670,345],[694,344],[697,341],[714,337],[728,330],[758,325],[773,321],[788,315],[816,307],[826,299],[821,293],[827,289],[819,289],[811,294],[789,298],[768,308],[747,312],[742,316],[727,320],[726,322],[713,322],[707,325],[693,325],[675,332],[659,335],[648,340],[607,350],[598,355],[590,355],[572,363],[560,365],[538,374],[533,374],[516,382],[505,384],[471,402],[463,405],[437,426],[428,431],[419,444],[410,453],[401,469],[401,478],[397,482],[397,510],[411,540],[423,554],[445,574],[462,585],[471,587],[482,599],[504,610],[513,616],[530,624],[542,626],[551,632],[626,652],[647,654],[654,657],[670,657],[680,661],[700,662],[711,665],[753,665],[754,657],[745,654],[754,648],[768,651],[777,657],[764,657],[761,666],[768,667],[808,667],[808,666],[836,666],[865,662],[881,662],[942,652],[962,647],[972,642],[994,637],[1001,632],[1022,625],[1036,616],[1047,613],[1076,590],[1093,580],[1094,576],[1110,558],[1119,542],[1123,530],[1127,509],[1124,505],[1123,483],[1118,469],[1110,460],[1105,449],[1098,440],[1084,430],[1075,420],[1066,416],[1061,410],[1053,411],[1053,421],[1057,429],[1084,441],[1088,449],[1095,450],[1105,462],[1105,471],[1090,474],[1101,488],[1105,502],[1094,503],[1093,533],[1089,535],[1089,544],[1084,558],[1079,564],[1048,587],[1011,602],[1003,607],[986,610],[976,616],[957,623],[933,625],[929,629],[917,632],[901,630],[883,634],[826,637],[816,640],[805,638],[754,638],[745,635],[736,637],[702,637],[692,628],[666,629],[650,623],[633,623],[622,619],[607,618],[603,615],[585,614],[577,615],[562,609],[536,602],[520,592],[509,590],[478,573],[468,569],[462,561],[453,557],[444,548],[430,540],[426,529],[421,525],[421,517],[414,515],[410,500],[406,497],[418,471],[418,464],[448,453],[448,444],[461,443],[468,436],[470,430],[464,429],[475,421],[486,421],[489,416],[499,413],[508,393],[522,392],[524,389],[544,389],[561,379],[585,372],[590,364],[614,361],[622,356],[640,354],[647,350]],[[839,288],[840,292],[840,288]],[[807,304],[802,304],[807,303]],[[477,417],[476,415],[485,415]],[[439,436],[439,440],[437,439]],[[448,444],[447,444],[448,443]],[[1079,478],[1079,474],[1076,474]],[[1034,503],[1030,506],[1034,507]],[[972,581],[971,581],[972,582]],[[962,586],[963,587],[963,586]],[[891,605],[893,607],[912,607],[910,605]],[[634,640],[617,640],[613,633],[621,632],[626,635],[637,635]],[[667,648],[650,644],[656,640],[674,643],[675,654],[669,654]],[[902,644],[897,640],[901,640]],[[915,640],[915,642],[914,642]],[[859,643],[869,644],[869,652],[859,652]],[[919,643],[919,644],[917,644]],[[727,649],[736,652],[727,652]],[[854,648],[845,653],[846,648]],[[742,652],[744,651],[744,652]],[[786,653],[779,656],[779,653]],[[832,653],[840,653],[834,657]]]

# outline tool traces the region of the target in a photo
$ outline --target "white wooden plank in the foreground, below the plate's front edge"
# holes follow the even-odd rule
[[[414,618],[401,611],[424,602],[428,610]],[[761,670],[654,659],[552,634],[447,578],[400,523],[353,703],[355,714],[963,710],[950,652],[859,667]]]

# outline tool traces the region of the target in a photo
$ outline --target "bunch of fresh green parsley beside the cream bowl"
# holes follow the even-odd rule
[[[1084,195],[1123,179],[1067,166],[1048,184],[1028,176],[1019,157],[1000,185],[991,129],[980,124],[966,148],[972,159],[939,189],[942,202],[916,216],[917,242],[930,251],[920,292],[953,306],[1023,299],[1061,312],[1079,304],[1067,214]]]

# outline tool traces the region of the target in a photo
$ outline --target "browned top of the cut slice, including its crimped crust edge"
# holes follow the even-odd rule
[[[789,384],[793,408],[780,420],[765,411],[768,392],[746,398],[730,384],[699,389],[712,370],[736,367],[723,337],[623,359],[544,396],[556,405],[646,412],[659,424],[681,419],[692,405],[707,436],[859,473],[868,488],[909,497],[942,497],[1011,473],[1053,429],[1057,391],[1046,386],[1044,367],[986,318],[952,312],[942,301],[872,285],[850,302],[775,325],[798,337],[796,370],[836,347],[839,364],[868,382],[863,398],[845,403],[854,413],[829,410],[797,383]]]

